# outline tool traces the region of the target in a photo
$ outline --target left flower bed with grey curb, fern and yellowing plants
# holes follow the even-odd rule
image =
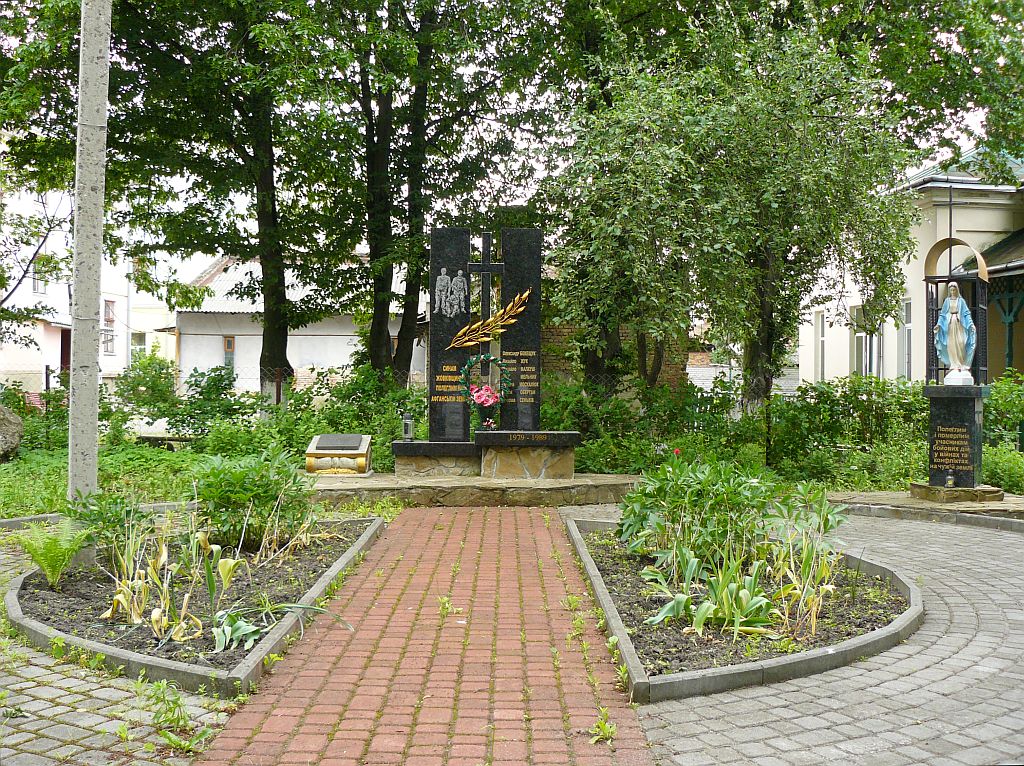
[[[383,523],[317,523],[311,495],[309,478],[268,450],[211,459],[194,502],[70,504],[56,524],[11,534],[39,566],[11,586],[11,622],[58,654],[74,646],[132,675],[245,690],[305,618],[325,612],[317,600]],[[90,565],[75,568],[86,543]]]

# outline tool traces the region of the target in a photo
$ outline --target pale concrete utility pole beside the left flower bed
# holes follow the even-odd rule
[[[78,146],[75,158],[75,265],[71,329],[68,497],[97,490],[99,441],[99,273],[103,262],[106,98],[111,0],[82,0]]]

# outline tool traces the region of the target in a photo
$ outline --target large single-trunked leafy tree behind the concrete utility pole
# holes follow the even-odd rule
[[[43,188],[69,187],[78,65],[76,4],[0,9],[0,128],[12,167]],[[109,137],[109,245],[142,289],[169,303],[202,296],[153,276],[167,252],[257,261],[239,292],[261,297],[262,368],[290,370],[290,327],[337,310],[352,278],[346,137],[319,119],[315,93],[330,52],[323,4],[118,0]],[[337,66],[331,55],[327,65]],[[291,275],[310,285],[290,301]]]

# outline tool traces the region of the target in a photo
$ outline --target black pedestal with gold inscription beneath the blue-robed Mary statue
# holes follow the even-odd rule
[[[925,386],[929,400],[928,484],[910,485],[922,500],[993,500],[981,479],[982,412],[988,386]]]

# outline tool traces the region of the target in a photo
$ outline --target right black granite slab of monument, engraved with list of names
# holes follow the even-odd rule
[[[537,228],[502,229],[502,306],[528,292],[526,307],[502,334],[502,361],[512,378],[512,394],[502,403],[503,431],[541,427],[541,248]]]

